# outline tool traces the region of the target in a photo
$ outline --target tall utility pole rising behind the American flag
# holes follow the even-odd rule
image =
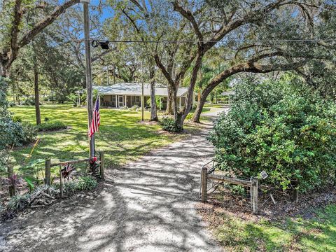
[[[84,14],[84,35],[85,35],[85,74],[87,89],[87,129],[92,121],[92,75],[91,75],[91,52],[90,52],[90,25],[89,25],[89,2],[90,0],[82,0]],[[89,137],[90,158],[94,156],[94,134]]]

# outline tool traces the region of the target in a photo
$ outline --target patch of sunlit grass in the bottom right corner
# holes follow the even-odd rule
[[[336,205],[316,210],[311,219],[270,222],[216,216],[214,235],[227,251],[336,251]]]

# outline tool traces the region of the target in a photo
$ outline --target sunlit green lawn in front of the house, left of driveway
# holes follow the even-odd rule
[[[10,109],[23,122],[35,123],[34,106],[16,106]],[[29,160],[52,158],[72,160],[88,156],[87,111],[71,105],[43,105],[41,119],[50,122],[62,121],[71,127],[69,130],[43,132],[38,134],[38,146],[31,158],[28,158],[32,145],[13,151],[12,162],[15,170]],[[145,112],[145,119],[149,112]],[[139,123],[141,112],[115,109],[101,110],[101,126],[96,134],[96,149],[104,151],[106,165],[120,165],[135,160],[153,148],[165,146],[181,139],[185,134],[167,134],[160,132],[156,124]],[[20,172],[19,172],[20,173]]]

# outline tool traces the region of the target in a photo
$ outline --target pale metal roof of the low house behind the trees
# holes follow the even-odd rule
[[[118,83],[111,86],[93,86],[92,88],[98,90],[101,94],[141,95],[141,83]],[[187,91],[188,88],[180,87],[177,91],[177,96],[186,96]],[[144,95],[151,95],[151,85],[148,83],[144,83]],[[160,87],[157,85],[157,87],[155,87],[155,95],[167,97],[167,87]]]

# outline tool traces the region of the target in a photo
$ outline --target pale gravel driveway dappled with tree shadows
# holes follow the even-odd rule
[[[114,169],[102,190],[0,224],[0,251],[221,251],[197,215],[207,131]]]

